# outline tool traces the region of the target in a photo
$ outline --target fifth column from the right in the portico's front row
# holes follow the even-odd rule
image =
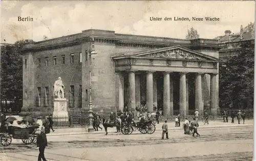
[[[153,73],[146,73],[146,106],[149,112],[153,112]]]

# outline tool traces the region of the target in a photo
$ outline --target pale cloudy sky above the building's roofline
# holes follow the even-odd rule
[[[18,21],[18,16],[33,21]],[[150,17],[162,17],[151,21]],[[164,21],[164,17],[218,17],[220,21]],[[34,41],[111,30],[185,39],[191,27],[200,38],[213,39],[225,30],[239,33],[241,24],[255,21],[254,1],[5,1],[1,2],[1,43]],[[4,42],[4,40],[6,40]]]

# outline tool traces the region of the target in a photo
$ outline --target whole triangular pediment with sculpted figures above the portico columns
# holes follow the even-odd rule
[[[206,60],[217,61],[217,58],[204,55],[203,53],[182,47],[165,47],[159,50],[149,50],[145,53],[140,53],[136,57],[150,58],[166,58],[166,59],[187,59],[187,60]]]

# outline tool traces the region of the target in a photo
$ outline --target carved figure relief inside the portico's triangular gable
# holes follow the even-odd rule
[[[173,49],[168,51],[162,51],[157,53],[152,53],[147,57],[154,58],[171,58],[171,59],[191,59],[191,60],[205,60],[204,58],[195,55],[195,53],[191,53],[182,49]]]

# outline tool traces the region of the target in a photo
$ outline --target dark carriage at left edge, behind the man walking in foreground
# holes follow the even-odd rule
[[[38,134],[41,132],[38,124],[28,127],[18,127],[2,122],[0,126],[0,142],[3,146],[9,146],[13,139],[21,139],[25,144],[36,144]]]

